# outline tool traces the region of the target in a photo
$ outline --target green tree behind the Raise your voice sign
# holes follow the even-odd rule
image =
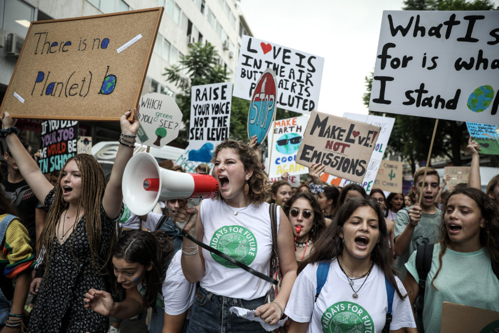
[[[177,104],[182,111],[185,128],[173,142],[181,147],[189,144],[189,128],[191,119],[191,87],[196,85],[226,82],[229,75],[226,69],[218,64],[218,53],[210,43],[189,45],[189,53],[182,56],[179,64],[165,68],[166,80],[182,90],[176,95]],[[250,101],[232,97],[231,125],[229,138],[248,141],[248,111]],[[277,109],[275,119],[296,117],[300,113]]]

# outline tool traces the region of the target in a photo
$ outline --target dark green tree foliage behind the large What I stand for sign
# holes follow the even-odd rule
[[[406,0],[405,10],[492,10],[491,0]],[[497,8],[499,9],[499,7]],[[362,100],[369,105],[373,73],[365,77],[366,90]],[[386,151],[401,156],[412,167],[413,173],[419,161],[426,160],[430,147],[435,119],[401,114],[370,112],[395,118],[395,125]],[[468,130],[466,123],[453,120],[439,120],[437,135],[433,143],[432,157],[444,157],[456,166],[462,165],[461,150],[466,147]]]

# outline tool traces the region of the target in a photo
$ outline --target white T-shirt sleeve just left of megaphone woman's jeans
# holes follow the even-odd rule
[[[184,277],[180,259],[182,252],[177,251],[173,256],[170,266],[166,271],[163,282],[163,299],[165,313],[168,315],[180,315],[186,312],[193,304],[196,297],[196,284],[192,284]]]

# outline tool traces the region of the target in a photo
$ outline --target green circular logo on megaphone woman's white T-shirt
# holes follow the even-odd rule
[[[241,226],[225,226],[212,236],[210,246],[242,262],[250,265],[256,256],[256,238],[253,233]],[[228,268],[239,268],[228,260],[211,253],[213,260]]]

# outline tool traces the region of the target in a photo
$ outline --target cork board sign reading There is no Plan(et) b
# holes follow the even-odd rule
[[[1,113],[117,120],[139,103],[163,7],[31,22]]]

